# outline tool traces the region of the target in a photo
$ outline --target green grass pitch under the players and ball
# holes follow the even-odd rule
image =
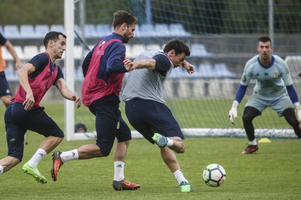
[[[64,127],[61,105],[43,104],[45,111]],[[2,105],[0,112],[4,113]],[[0,119],[3,122],[3,115]],[[7,155],[4,122],[0,124],[0,158]],[[52,181],[52,161],[46,156],[38,165],[48,179],[37,184],[22,174],[21,168],[39,148],[43,136],[27,132],[23,161],[0,175],[0,199],[301,199],[301,144],[297,139],[272,139],[260,143],[253,155],[241,155],[247,139],[187,138],[186,152],[177,154],[181,169],[194,192],[181,193],[178,182],[160,157],[160,150],[145,139],[133,139],[125,165],[125,176],[141,184],[135,191],[115,191],[113,151],[106,158],[64,163],[58,180]],[[95,141],[63,141],[56,150],[67,151]],[[114,147],[113,147],[114,148]],[[211,188],[202,179],[203,169],[211,163],[222,165],[227,178],[222,186]]]

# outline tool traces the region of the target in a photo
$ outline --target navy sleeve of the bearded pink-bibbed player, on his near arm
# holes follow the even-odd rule
[[[126,47],[120,42],[112,42],[107,57],[108,73],[126,73],[128,70],[121,61],[126,55]]]

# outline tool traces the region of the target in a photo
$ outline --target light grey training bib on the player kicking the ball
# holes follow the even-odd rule
[[[164,52],[159,50],[147,50],[138,55],[134,62],[138,60],[150,59],[158,54],[165,55]],[[122,93],[122,100],[125,101],[127,98],[140,98],[165,103],[163,99],[163,83],[170,75],[173,68],[174,66],[170,61],[170,67],[169,71],[166,73],[166,77],[162,76],[158,71],[149,70],[146,68],[130,71],[126,87]]]

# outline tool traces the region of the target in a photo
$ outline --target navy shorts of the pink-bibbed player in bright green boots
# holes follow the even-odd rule
[[[13,102],[4,115],[8,156],[20,161],[23,158],[24,135],[27,130],[45,137],[64,137],[61,128],[44,112],[44,107],[33,107],[31,110],[24,110],[24,107],[22,103]]]

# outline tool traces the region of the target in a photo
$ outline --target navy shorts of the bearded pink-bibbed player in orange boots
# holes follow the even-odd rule
[[[119,103],[96,105],[92,102],[89,110],[96,116],[96,145],[100,148],[101,154],[104,156],[110,154],[115,138],[117,138],[117,142],[125,142],[132,139],[131,130],[121,117]]]

